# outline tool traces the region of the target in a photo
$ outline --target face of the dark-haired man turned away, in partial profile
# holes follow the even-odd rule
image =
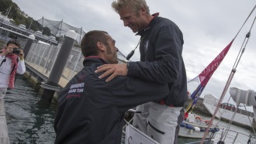
[[[112,39],[111,36],[108,35],[107,42],[108,44],[106,45],[106,60],[110,64],[118,63],[117,54],[116,54],[118,52],[118,49],[115,46],[116,41]]]

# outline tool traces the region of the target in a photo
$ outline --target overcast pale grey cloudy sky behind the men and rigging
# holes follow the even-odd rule
[[[35,20],[62,20],[71,26],[82,27],[85,33],[90,30],[104,30],[113,39],[116,46],[127,55],[135,48],[140,36],[128,27],[123,26],[119,15],[112,10],[113,0],[12,0],[19,8]],[[244,24],[251,10],[256,5],[254,0],[146,0],[150,13],[160,12],[160,16],[171,19],[182,30],[184,45],[182,57],[185,62],[188,81],[196,77],[202,70],[230,43]],[[256,28],[252,27],[256,10],[237,35],[230,51],[220,67],[209,80],[201,98],[205,94],[213,94],[220,98],[230,72],[241,48],[245,51],[237,65],[237,71],[230,87],[256,91]],[[244,46],[246,34],[251,29],[251,37]],[[137,49],[131,58],[140,60]],[[189,86],[190,87],[190,86]],[[223,99],[230,98],[229,90]],[[230,103],[234,101],[230,100]],[[250,107],[251,108],[251,107]],[[250,109],[249,108],[249,109]]]

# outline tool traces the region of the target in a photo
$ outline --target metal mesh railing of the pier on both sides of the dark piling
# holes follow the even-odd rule
[[[33,43],[28,55],[26,56],[26,63],[33,65],[33,67],[40,71],[40,73],[49,76],[60,49],[61,44],[54,46],[42,43]],[[65,67],[62,77],[67,80],[71,80],[71,78],[74,77],[74,74],[77,74],[78,71],[83,68],[83,60],[84,57],[81,54],[80,48],[73,47],[67,63],[63,63],[65,64]]]

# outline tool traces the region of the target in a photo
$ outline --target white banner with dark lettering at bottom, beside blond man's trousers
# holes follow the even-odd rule
[[[125,144],[159,144],[154,139],[151,139],[144,132],[140,132],[139,129],[130,125],[129,122],[126,124],[126,138]]]

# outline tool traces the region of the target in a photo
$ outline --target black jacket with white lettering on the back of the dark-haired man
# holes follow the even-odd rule
[[[95,74],[106,62],[88,57],[85,68],[59,94],[55,143],[120,144],[124,112],[168,95],[167,84],[116,77],[106,83]]]

